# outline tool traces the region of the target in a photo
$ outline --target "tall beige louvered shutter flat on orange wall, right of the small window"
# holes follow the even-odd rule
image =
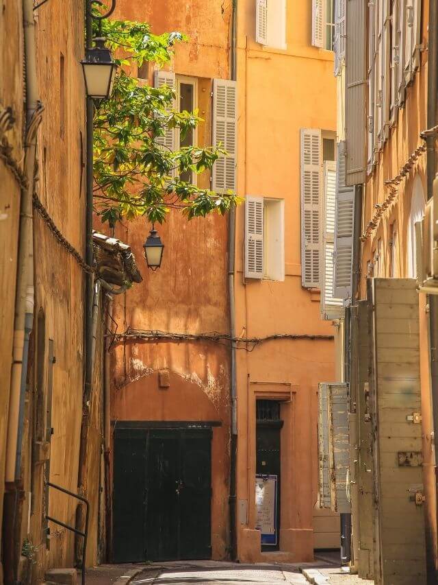
[[[322,149],[320,130],[301,130],[301,280],[320,287]]]

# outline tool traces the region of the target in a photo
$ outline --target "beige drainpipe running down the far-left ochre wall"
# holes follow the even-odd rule
[[[34,315],[34,271],[33,271],[33,219],[32,195],[36,171],[36,132],[42,117],[42,105],[38,99],[36,76],[35,27],[33,1],[23,0],[23,27],[25,43],[25,91],[26,131],[24,171],[27,187],[21,190],[20,225],[15,296],[14,341],[12,346],[12,368],[10,377],[10,401],[8,412],[8,434],[5,453],[5,505],[3,542],[14,542],[16,523],[17,484],[21,468],[21,442],[23,435],[23,407],[27,377],[27,353],[29,335]],[[18,473],[17,473],[18,470]],[[14,547],[5,555],[5,582],[14,578]]]

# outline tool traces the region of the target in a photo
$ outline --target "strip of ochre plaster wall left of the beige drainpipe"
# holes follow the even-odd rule
[[[0,108],[12,108],[14,126],[5,137],[12,156],[23,160],[23,33],[20,2],[0,2]],[[8,42],[14,38],[15,42]],[[21,191],[0,160],[0,518],[5,488],[5,444],[8,429],[12,340],[16,287],[16,254]],[[1,534],[0,534],[1,547]],[[0,560],[0,583],[3,582]]]

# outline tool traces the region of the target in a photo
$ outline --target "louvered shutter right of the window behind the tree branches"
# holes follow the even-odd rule
[[[216,193],[236,189],[237,85],[231,80],[213,80],[213,144],[221,145],[227,156],[213,165],[211,185]]]

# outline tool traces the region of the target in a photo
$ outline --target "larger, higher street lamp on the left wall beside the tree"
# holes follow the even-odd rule
[[[110,49],[105,47],[105,38],[94,38],[94,47],[86,50],[81,61],[88,97],[107,99],[112,93],[117,65]]]

